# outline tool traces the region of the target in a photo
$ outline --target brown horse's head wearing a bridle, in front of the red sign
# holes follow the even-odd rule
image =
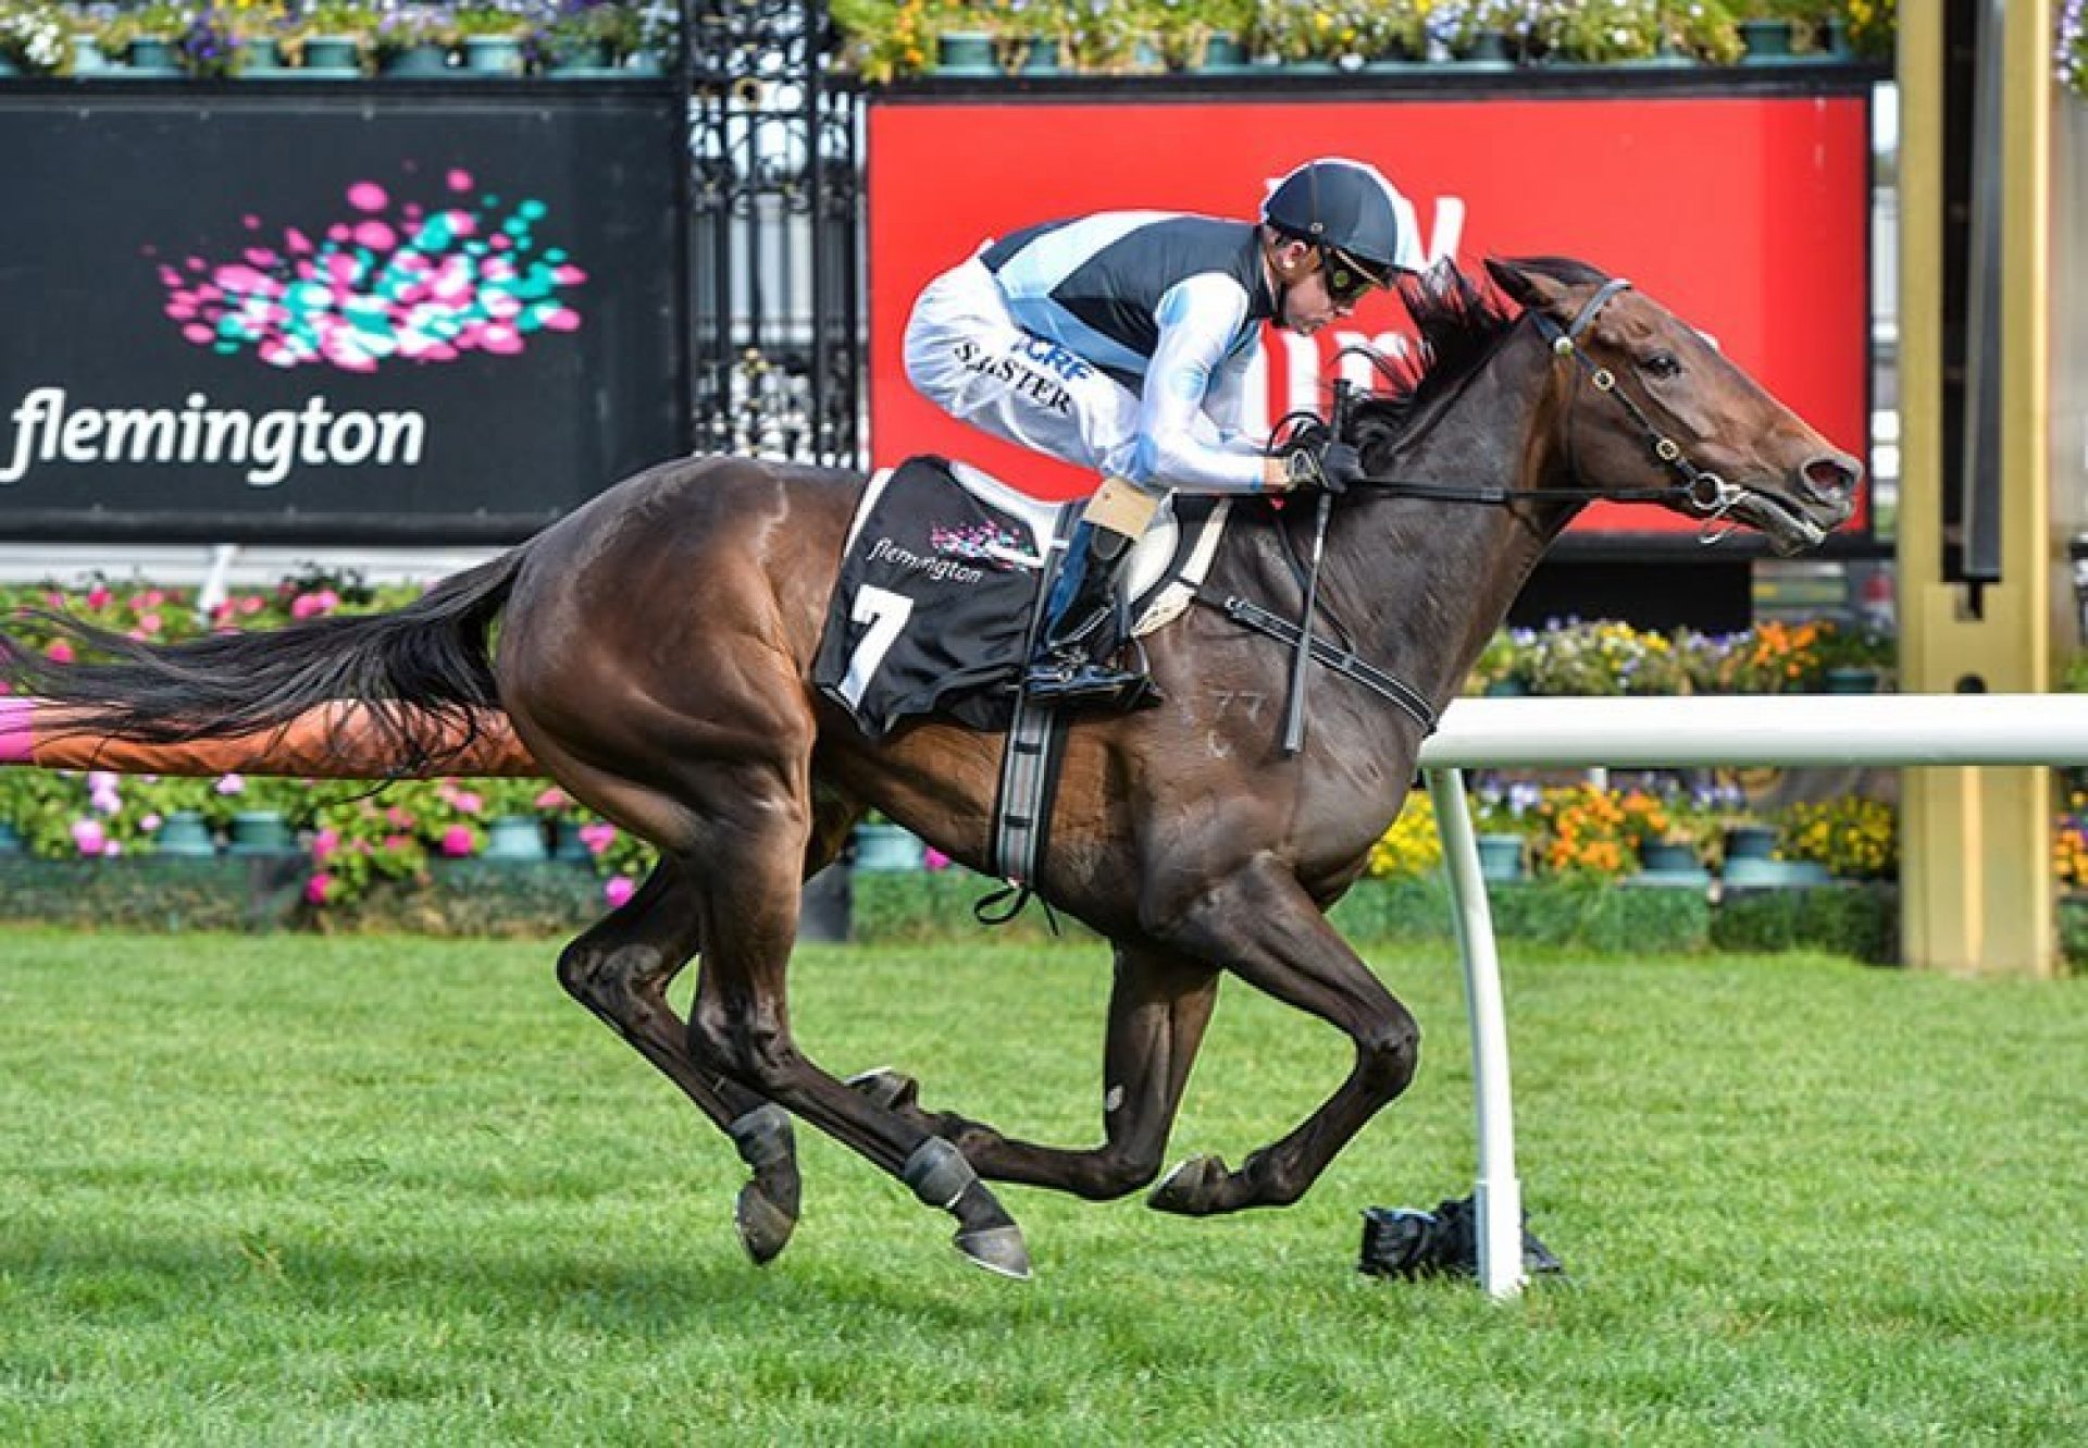
[[[1487,261],[1572,372],[1566,458],[1591,487],[1672,487],[1670,504],[1817,547],[1856,510],[1862,464],[1652,301],[1579,261]]]

